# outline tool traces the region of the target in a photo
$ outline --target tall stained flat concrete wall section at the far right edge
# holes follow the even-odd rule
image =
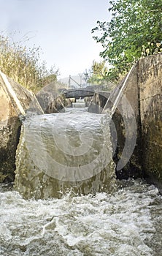
[[[162,192],[162,54],[139,61],[142,167]]]

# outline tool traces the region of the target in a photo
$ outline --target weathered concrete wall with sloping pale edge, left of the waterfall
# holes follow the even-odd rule
[[[0,182],[14,180],[20,119],[26,115],[42,113],[44,112],[31,91],[0,72]]]

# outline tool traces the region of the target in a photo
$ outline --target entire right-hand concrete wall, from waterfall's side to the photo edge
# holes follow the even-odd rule
[[[134,65],[109,97],[104,112],[111,111],[114,160],[118,164],[129,158],[118,168],[117,178],[144,177],[162,192],[162,54]],[[136,145],[131,154],[129,144],[133,145],[134,136]]]

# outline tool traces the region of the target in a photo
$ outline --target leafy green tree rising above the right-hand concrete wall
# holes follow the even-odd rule
[[[109,70],[113,80],[141,56],[162,51],[162,1],[112,0],[109,4],[111,20],[97,21],[92,33],[98,33],[93,38],[104,48],[101,57],[113,66]]]

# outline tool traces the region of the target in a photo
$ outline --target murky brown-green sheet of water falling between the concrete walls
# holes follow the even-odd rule
[[[23,123],[15,187],[26,198],[115,189],[110,118],[77,110],[32,116]]]

